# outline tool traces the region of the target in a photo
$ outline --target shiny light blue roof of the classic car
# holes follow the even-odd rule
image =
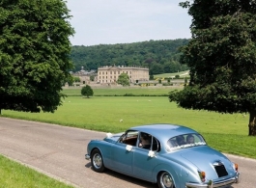
[[[167,123],[145,124],[140,126],[134,126],[129,129],[146,132],[156,137],[158,140],[169,140],[170,138],[178,135],[198,133],[195,130],[183,125]]]

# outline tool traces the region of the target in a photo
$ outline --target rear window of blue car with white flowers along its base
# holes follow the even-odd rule
[[[176,149],[198,147],[202,145],[207,144],[200,134],[184,134],[170,138],[166,144],[166,149],[170,152]]]

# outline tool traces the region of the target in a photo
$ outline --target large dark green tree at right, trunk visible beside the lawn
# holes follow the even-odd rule
[[[181,63],[190,69],[183,91],[170,101],[185,109],[249,113],[256,136],[256,2],[194,0],[180,4],[192,16],[192,39]]]

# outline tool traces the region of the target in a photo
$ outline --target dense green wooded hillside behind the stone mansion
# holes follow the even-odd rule
[[[71,48],[73,71],[103,66],[149,67],[150,74],[172,73],[188,69],[181,65],[180,47],[189,40],[149,40],[133,43],[74,45]]]

